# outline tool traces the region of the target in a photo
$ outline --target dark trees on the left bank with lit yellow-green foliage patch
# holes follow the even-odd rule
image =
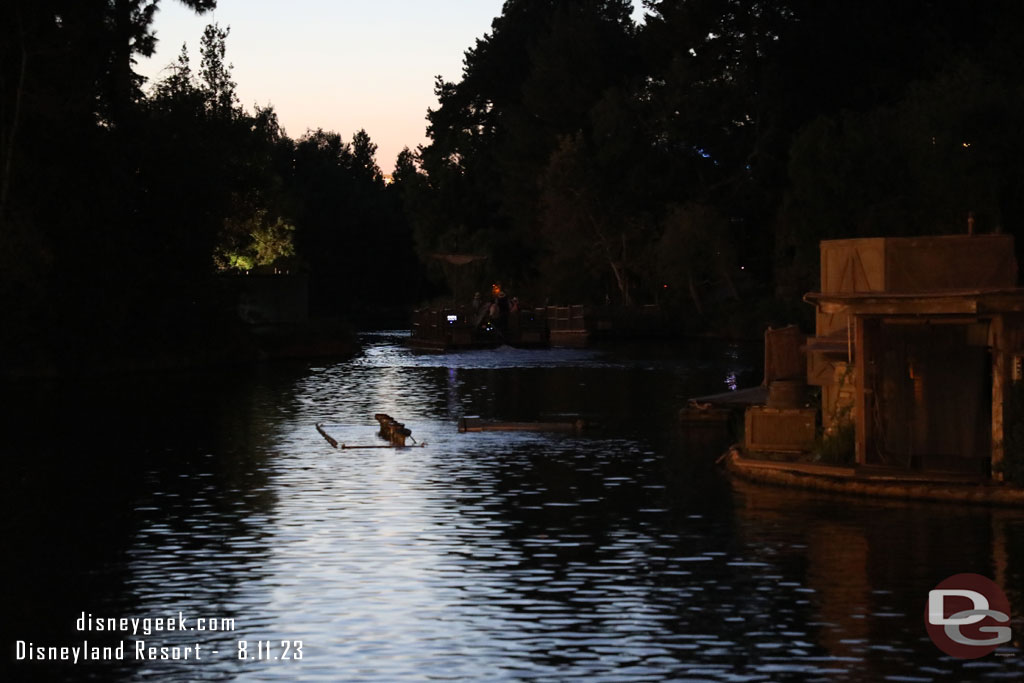
[[[293,139],[271,106],[244,106],[226,27],[144,83],[158,5],[0,9],[5,365],[230,355],[232,272],[305,273],[317,317],[411,304],[411,232],[370,136]]]

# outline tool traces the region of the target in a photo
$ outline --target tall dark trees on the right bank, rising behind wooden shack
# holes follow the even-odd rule
[[[707,323],[816,289],[822,239],[1016,229],[1020,3],[643,4],[505,3],[437,80],[421,252]]]

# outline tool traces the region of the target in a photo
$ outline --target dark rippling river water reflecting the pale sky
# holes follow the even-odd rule
[[[758,349],[364,342],[345,361],[8,388],[4,679],[1024,678],[1024,513],[744,485],[678,433],[687,396],[759,381]],[[339,451],[314,429],[381,443],[380,412],[425,445]],[[456,428],[559,414],[593,429]],[[975,660],[924,627],[928,591],[965,571],[1015,616],[1014,643]],[[186,630],[95,628],[122,617]],[[18,658],[83,640],[110,649]]]

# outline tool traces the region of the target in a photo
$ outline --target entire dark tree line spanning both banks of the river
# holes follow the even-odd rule
[[[1021,215],[1012,0],[645,0],[639,24],[507,0],[389,185],[365,131],[293,139],[243,106],[227,28],[143,83],[159,3],[0,9],[8,357],[202,348],[232,334],[219,275],[261,267],[306,272],[325,316],[495,281],[697,327],[799,314],[822,239]]]

